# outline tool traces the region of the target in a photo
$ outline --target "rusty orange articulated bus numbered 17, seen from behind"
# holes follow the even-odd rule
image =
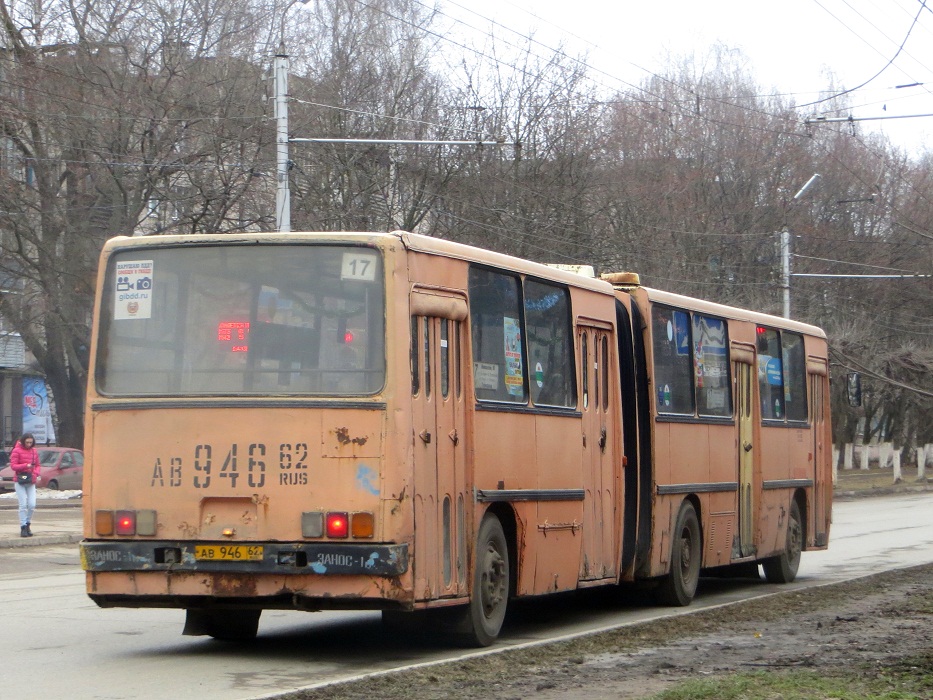
[[[812,326],[396,232],[116,238],[88,387],[102,607],[256,635],[376,609],[491,644],[510,599],[828,544]]]

